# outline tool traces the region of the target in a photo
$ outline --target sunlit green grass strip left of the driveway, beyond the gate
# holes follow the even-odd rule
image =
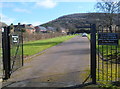
[[[76,35],[61,36],[61,37],[56,37],[56,38],[50,38],[50,39],[45,39],[45,40],[38,40],[38,41],[31,41],[31,42],[24,43],[24,46],[23,46],[24,56],[26,57],[26,56],[34,55],[47,48],[50,48],[66,40],[69,40],[75,36]]]

